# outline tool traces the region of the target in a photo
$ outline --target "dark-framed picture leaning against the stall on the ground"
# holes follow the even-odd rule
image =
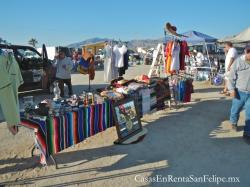
[[[121,100],[113,105],[116,130],[120,142],[142,131],[136,106],[133,99]]]

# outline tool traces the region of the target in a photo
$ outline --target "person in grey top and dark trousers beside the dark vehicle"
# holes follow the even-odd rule
[[[63,50],[59,50],[54,66],[56,67],[56,80],[59,83],[61,97],[64,97],[64,84],[68,86],[69,96],[71,96],[73,94],[71,84],[71,70],[73,68],[73,62],[71,58],[66,57]]]

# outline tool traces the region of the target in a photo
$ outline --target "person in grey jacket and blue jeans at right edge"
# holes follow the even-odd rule
[[[228,90],[233,97],[230,121],[232,129],[237,129],[240,112],[245,109],[243,138],[250,144],[250,43],[245,54],[235,60],[228,75]]]

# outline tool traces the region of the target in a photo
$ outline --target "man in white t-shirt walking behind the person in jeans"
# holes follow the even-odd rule
[[[222,94],[226,94],[227,96],[230,95],[228,92],[227,84],[228,84],[228,74],[231,69],[232,64],[234,63],[235,59],[237,58],[238,54],[236,49],[233,47],[233,44],[231,42],[225,43],[225,53],[226,53],[226,59],[225,59],[225,84],[224,89],[221,92]]]

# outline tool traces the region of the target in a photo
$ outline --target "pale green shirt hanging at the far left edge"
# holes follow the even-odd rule
[[[0,106],[10,127],[20,123],[17,91],[18,86],[22,84],[19,66],[14,64],[16,61],[10,61],[12,59],[3,54],[0,55]]]

